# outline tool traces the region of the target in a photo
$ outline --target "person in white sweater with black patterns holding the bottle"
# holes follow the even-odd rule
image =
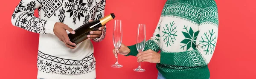
[[[38,9],[39,17],[34,16]],[[70,42],[89,20],[104,17],[105,0],[21,0],[12,14],[12,24],[40,34],[38,46],[38,79],[95,79],[95,58],[90,40],[100,42],[105,26],[91,31],[79,44]],[[72,47],[70,45],[75,45]],[[26,53],[26,52],[25,52]]]

